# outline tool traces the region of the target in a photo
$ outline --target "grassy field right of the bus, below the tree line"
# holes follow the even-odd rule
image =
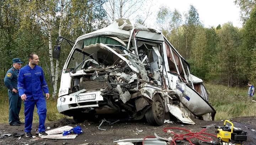
[[[215,120],[233,117],[256,116],[256,102],[247,97],[247,88],[206,83],[208,101],[216,110]],[[254,100],[256,97],[254,96]]]

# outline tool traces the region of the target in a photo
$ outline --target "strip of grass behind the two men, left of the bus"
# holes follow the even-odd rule
[[[61,118],[69,118],[68,116],[62,115],[57,110],[57,100],[53,100],[49,98],[46,101],[46,108],[47,108],[47,115],[46,115],[46,122],[49,121],[56,121]],[[9,101],[8,101],[8,95],[7,95],[7,89],[3,88],[0,90],[0,123],[9,123],[8,116],[9,116]],[[20,120],[21,122],[24,122],[24,105],[22,102],[21,105],[21,111],[20,111]],[[35,106],[34,109],[34,115],[33,115],[33,122],[38,122],[38,115],[37,115],[37,109]]]

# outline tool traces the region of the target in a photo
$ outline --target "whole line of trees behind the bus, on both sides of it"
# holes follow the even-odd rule
[[[12,58],[36,52],[53,96],[71,47],[62,44],[60,58],[52,58],[52,48],[59,36],[75,41],[80,35],[106,27],[113,19],[129,17],[141,9],[136,0],[1,0],[0,1],[0,79],[12,66]],[[256,10],[255,1],[236,0],[241,8],[242,28],[231,22],[218,27],[204,27],[196,8],[191,5],[181,15],[178,10],[159,8],[156,22],[165,37],[190,63],[191,73],[209,81],[232,87],[247,81],[256,83]],[[136,7],[136,8],[135,8]],[[133,9],[132,9],[133,8]],[[135,21],[145,24],[152,13]],[[183,21],[185,19],[185,21]],[[147,25],[147,24],[145,24]],[[24,65],[25,65],[24,64]],[[4,88],[0,81],[0,89]]]

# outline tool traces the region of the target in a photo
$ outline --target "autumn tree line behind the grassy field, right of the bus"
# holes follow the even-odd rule
[[[229,87],[256,84],[256,1],[235,4],[241,8],[242,28],[232,22],[204,27],[193,5],[183,16],[166,6],[157,13],[162,33],[190,63],[190,72]]]

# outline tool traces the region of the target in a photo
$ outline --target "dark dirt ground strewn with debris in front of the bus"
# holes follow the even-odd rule
[[[242,130],[247,132],[247,141],[244,142],[244,145],[256,145],[256,117],[238,117],[230,119],[234,123],[235,127],[239,127]],[[21,144],[34,144],[34,145],[61,145],[66,143],[68,145],[80,145],[88,143],[89,145],[114,145],[113,140],[118,139],[129,139],[129,138],[144,138],[145,136],[154,136],[154,133],[158,134],[161,137],[170,137],[170,134],[166,134],[162,131],[164,127],[181,127],[191,130],[192,132],[197,132],[202,130],[201,126],[206,126],[210,124],[217,124],[218,126],[223,125],[223,121],[202,121],[194,120],[196,124],[188,125],[182,124],[179,122],[174,123],[165,123],[163,126],[154,127],[149,126],[146,122],[143,121],[122,121],[117,122],[112,125],[103,124],[101,128],[106,129],[102,131],[98,129],[100,123],[93,122],[84,122],[81,124],[75,124],[72,119],[60,119],[55,122],[46,123],[46,127],[54,129],[62,126],[76,126],[79,125],[82,128],[83,133],[76,136],[75,139],[44,139],[38,142],[30,141],[26,138],[25,135],[21,137],[20,140],[14,136],[5,137],[0,139],[0,145],[21,145]],[[38,127],[38,123],[33,123],[32,134],[35,135],[35,129]],[[255,130],[254,130],[255,129]],[[47,129],[48,130],[48,129]],[[138,131],[139,130],[139,131]],[[143,130],[141,132],[141,130]],[[172,130],[176,133],[186,133],[180,132],[180,130]],[[207,130],[208,133],[215,134],[215,129]],[[0,136],[7,133],[24,133],[24,126],[9,126],[8,124],[0,124]],[[188,145],[188,142],[182,141],[178,143],[180,145]]]

